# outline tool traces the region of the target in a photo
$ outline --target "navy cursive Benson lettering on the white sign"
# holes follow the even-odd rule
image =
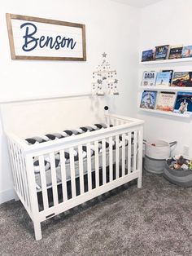
[[[56,36],[55,38],[49,36],[41,36],[40,38],[35,38],[34,35],[37,33],[37,27],[35,24],[26,22],[20,26],[20,29],[25,29],[24,45],[22,49],[24,51],[33,51],[37,46],[40,48],[50,47],[50,49],[59,50],[60,48],[70,48],[74,49],[76,42],[72,38],[66,38],[61,36]],[[30,32],[29,32],[30,29]]]

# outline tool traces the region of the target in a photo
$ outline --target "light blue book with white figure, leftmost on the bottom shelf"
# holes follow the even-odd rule
[[[157,91],[155,90],[144,90],[142,92],[142,99],[140,108],[154,109],[157,97]]]

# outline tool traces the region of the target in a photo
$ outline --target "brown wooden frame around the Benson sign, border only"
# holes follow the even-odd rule
[[[11,49],[11,59],[12,60],[76,60],[76,61],[86,61],[86,40],[85,40],[85,24],[78,24],[72,23],[67,21],[61,20],[50,20],[44,19],[39,17],[33,16],[26,16],[26,15],[15,15],[11,13],[6,14],[7,19],[7,30],[8,30],[8,37]],[[15,54],[15,44],[14,44],[14,37],[13,37],[13,29],[11,20],[27,20],[27,21],[35,21],[38,23],[43,24],[56,24],[61,26],[68,26],[74,28],[81,29],[81,37],[82,37],[82,53],[83,57],[53,57],[53,56],[28,56],[28,55],[16,55]]]

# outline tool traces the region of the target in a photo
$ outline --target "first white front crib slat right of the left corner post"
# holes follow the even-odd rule
[[[47,210],[49,208],[47,188],[46,188],[46,169],[44,157],[39,157],[39,167],[40,167],[40,177],[41,177],[41,190],[42,190],[42,199],[43,199],[43,209]]]

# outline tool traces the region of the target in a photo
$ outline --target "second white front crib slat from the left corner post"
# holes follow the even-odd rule
[[[50,153],[50,171],[52,179],[52,191],[54,198],[54,205],[58,205],[58,191],[57,191],[57,178],[56,178],[56,169],[55,169],[55,153]]]

